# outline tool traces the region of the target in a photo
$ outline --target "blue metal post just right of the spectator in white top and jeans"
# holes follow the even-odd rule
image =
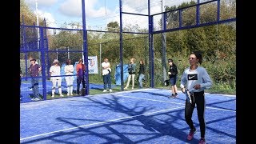
[[[121,70],[121,90],[123,91],[123,59],[122,59],[122,0],[119,0],[119,9],[120,9],[120,48],[119,48],[119,55],[120,55],[120,70]]]

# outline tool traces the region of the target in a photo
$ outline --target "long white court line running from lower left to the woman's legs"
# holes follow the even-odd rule
[[[64,130],[56,130],[56,131],[53,131],[53,132],[50,132],[50,133],[38,134],[38,135],[31,136],[31,137],[20,138],[20,141],[25,140],[25,139],[29,139],[29,138],[35,138],[35,137],[47,135],[47,134],[54,134],[54,133],[58,133],[58,132],[66,131],[66,130],[74,130],[74,129],[78,129],[78,128],[86,127],[86,126],[95,126],[95,125],[99,125],[99,124],[103,124],[103,123],[107,123],[107,122],[116,122],[116,121],[120,121],[120,120],[124,120],[124,119],[139,117],[139,116],[142,116],[142,115],[158,114],[158,113],[161,113],[161,112],[166,112],[166,111],[170,111],[170,110],[176,110],[176,109],[180,109],[180,108],[183,108],[183,107],[184,106],[180,106],[180,107],[176,107],[176,108],[172,108],[172,109],[167,109],[167,110],[159,110],[159,111],[154,111],[154,112],[146,113],[146,114],[138,114],[138,115],[134,115],[134,116],[130,116],[130,117],[125,117],[125,118],[117,118],[117,119],[112,119],[112,120],[108,120],[108,121],[104,121],[104,122],[91,123],[89,125],[76,126],[76,127],[72,127],[72,128],[64,129]]]

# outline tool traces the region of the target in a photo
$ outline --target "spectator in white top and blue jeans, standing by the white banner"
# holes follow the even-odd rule
[[[104,83],[104,90],[103,92],[106,92],[106,86],[108,86],[110,92],[111,90],[111,68],[110,68],[110,62],[107,58],[104,58],[104,62],[102,62],[102,77],[103,77],[103,83]]]

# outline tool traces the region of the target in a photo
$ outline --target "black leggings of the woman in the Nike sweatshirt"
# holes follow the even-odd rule
[[[185,106],[185,119],[186,123],[190,126],[190,129],[194,129],[194,122],[192,121],[192,114],[194,111],[195,105],[198,110],[198,121],[200,125],[201,137],[205,138],[206,133],[206,122],[205,122],[205,109],[206,109],[206,101],[204,91],[194,92],[190,94],[192,99],[192,104],[186,101]]]

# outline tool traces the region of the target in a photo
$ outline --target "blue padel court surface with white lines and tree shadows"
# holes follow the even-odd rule
[[[185,94],[142,89],[20,104],[20,143],[198,143],[186,140]],[[206,142],[236,143],[235,95],[206,93]]]

